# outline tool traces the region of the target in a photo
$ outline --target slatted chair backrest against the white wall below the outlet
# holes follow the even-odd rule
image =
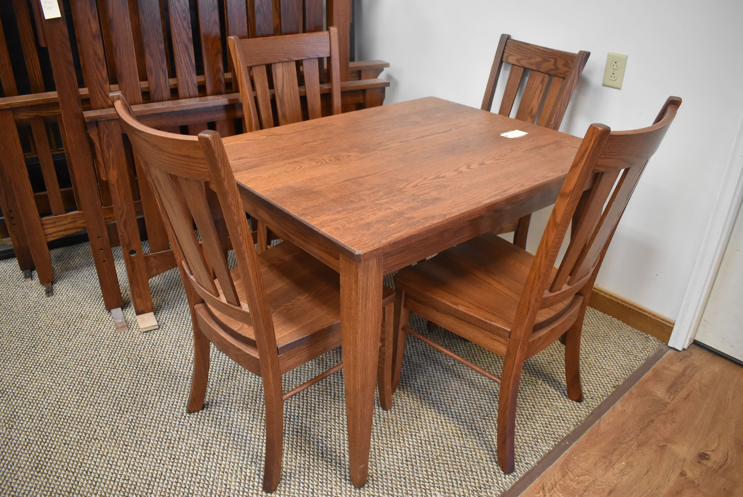
[[[522,78],[528,70],[516,119],[558,129],[590,55],[591,52],[586,51],[571,53],[531,45],[511,39],[510,35],[501,35],[481,108],[490,111],[493,107],[496,85],[503,62],[506,62],[510,64],[510,71],[498,114],[510,117]]]

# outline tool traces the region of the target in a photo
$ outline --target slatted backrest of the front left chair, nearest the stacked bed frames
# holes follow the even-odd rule
[[[137,121],[120,92],[112,92],[111,100],[158,198],[181,274],[187,279],[184,285],[191,285],[204,302],[222,314],[252,325],[262,361],[265,354],[276,354],[273,318],[253,236],[221,137],[211,130],[195,137],[149,128]],[[241,302],[230,274],[205,182],[217,194],[247,302]]]

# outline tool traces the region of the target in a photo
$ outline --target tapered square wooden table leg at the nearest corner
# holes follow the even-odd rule
[[[345,414],[351,482],[366,484],[371,418],[382,326],[382,259],[340,257],[340,322],[343,335]]]

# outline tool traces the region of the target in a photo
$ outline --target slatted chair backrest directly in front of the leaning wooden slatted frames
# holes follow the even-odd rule
[[[328,57],[331,111],[340,114],[338,31],[335,27],[328,27],[327,31],[319,33],[265,38],[230,36],[228,44],[240,85],[247,131],[275,126],[271,79],[279,126],[298,123],[304,120],[303,116],[308,119],[320,117],[320,94],[328,89],[327,83],[320,84],[320,75],[325,72],[323,57]],[[299,85],[298,62],[302,65],[302,86]],[[269,78],[268,65],[273,78]],[[304,111],[301,95],[305,95]]]

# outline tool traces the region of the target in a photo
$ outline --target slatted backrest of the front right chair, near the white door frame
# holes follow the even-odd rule
[[[637,181],[679,105],[680,98],[669,97],[653,125],[643,129],[611,131],[603,124],[588,127],[552,209],[519,302],[519,311],[527,317],[523,323],[526,328],[531,328],[528,320],[533,323],[537,311],[571,299],[592,281]],[[554,262],[571,220],[571,240],[553,277]]]

